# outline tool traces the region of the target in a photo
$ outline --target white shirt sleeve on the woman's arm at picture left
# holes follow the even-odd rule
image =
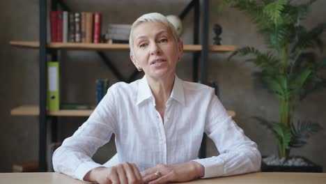
[[[115,130],[116,109],[113,91],[112,86],[88,120],[56,149],[52,158],[54,171],[83,181],[88,171],[102,167],[91,158],[100,146],[110,140]]]

